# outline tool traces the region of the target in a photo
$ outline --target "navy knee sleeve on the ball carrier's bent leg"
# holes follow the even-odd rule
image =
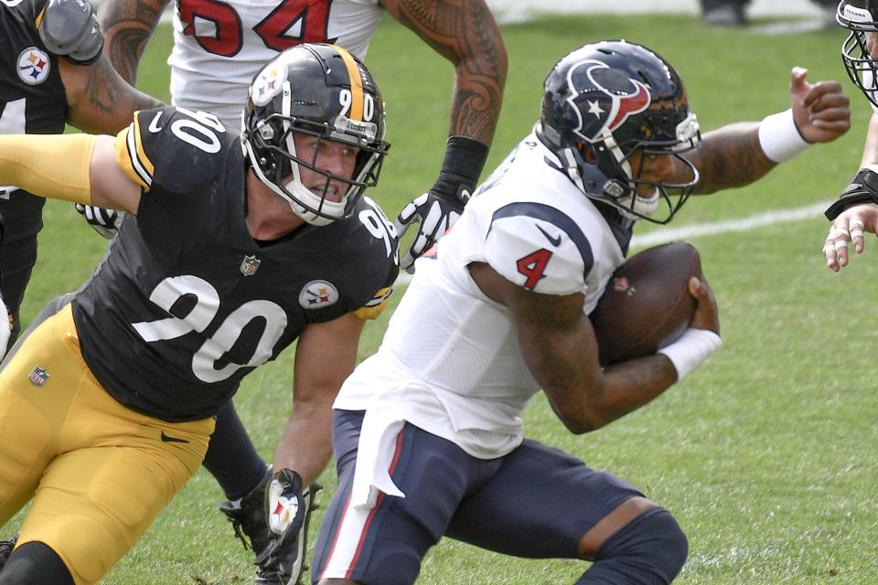
[[[616,575],[618,583],[669,583],[689,554],[689,540],[668,510],[656,507],[606,539],[594,569]],[[603,581],[602,581],[603,582]]]

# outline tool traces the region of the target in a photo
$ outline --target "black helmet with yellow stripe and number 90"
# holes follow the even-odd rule
[[[353,176],[319,168],[319,148],[296,154],[293,133],[359,148]],[[378,85],[366,66],[344,48],[311,43],[288,48],[253,78],[241,144],[256,176],[306,222],[322,226],[348,218],[363,189],[378,182],[390,148],[384,142],[384,104]],[[322,192],[302,184],[300,165],[327,177]],[[333,179],[348,185],[341,201],[327,198]]]

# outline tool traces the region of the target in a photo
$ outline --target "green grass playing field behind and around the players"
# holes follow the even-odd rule
[[[801,154],[755,186],[692,200],[674,228],[828,201],[858,167],[869,110],[841,66],[841,29],[768,37],[746,28],[705,28],[694,16],[564,16],[503,27],[503,35],[509,81],[487,168],[530,130],[552,63],[585,42],[614,37],[654,48],[676,66],[703,130],[787,108],[794,65],[810,69],[811,80],[843,80],[851,95],[850,133]],[[169,44],[165,27],[140,74],[141,88],[162,99]],[[393,144],[372,197],[392,216],[434,180],[452,69],[389,19],[367,62],[387,101]],[[83,282],[105,247],[69,204],[49,202],[46,224],[26,320]],[[677,582],[878,582],[878,330],[869,293],[878,279],[878,245],[870,239],[862,258],[833,274],[820,254],[828,226],[815,213],[691,238],[720,306],[721,351],[659,399],[601,431],[573,436],[541,395],[525,411],[531,437],[620,474],[678,517],[691,552]],[[637,234],[650,231],[641,226]],[[378,346],[389,314],[369,324],[362,356]],[[248,378],[236,400],[266,458],[290,407],[293,361],[287,353]],[[326,503],[335,485],[332,468],[321,481]],[[217,511],[221,499],[209,473],[198,472],[102,582],[252,582],[252,558]],[[312,541],[319,519],[320,512]],[[14,525],[17,519],[4,534]],[[502,558],[445,540],[425,559],[419,582],[554,585],[573,583],[584,569],[580,562]]]

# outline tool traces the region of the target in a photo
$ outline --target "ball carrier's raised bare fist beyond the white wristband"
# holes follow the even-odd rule
[[[794,67],[789,97],[798,132],[809,143],[828,143],[851,128],[848,96],[838,81],[808,83],[808,69]]]

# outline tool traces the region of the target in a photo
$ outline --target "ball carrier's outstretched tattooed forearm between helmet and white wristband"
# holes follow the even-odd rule
[[[704,134],[703,141],[686,154],[701,172],[697,193],[744,186],[776,166],[759,145],[759,122],[738,122]]]

